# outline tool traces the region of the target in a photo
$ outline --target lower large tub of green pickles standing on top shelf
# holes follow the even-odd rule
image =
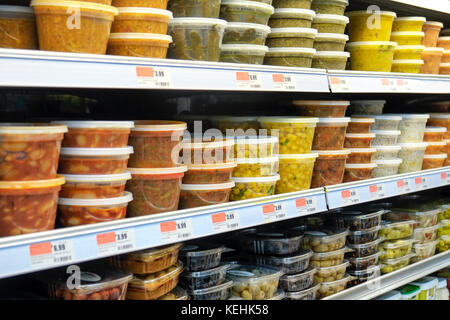
[[[217,62],[227,22],[209,18],[174,18],[169,23],[171,59]]]

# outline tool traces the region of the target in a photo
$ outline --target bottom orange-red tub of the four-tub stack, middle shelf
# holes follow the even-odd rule
[[[104,199],[59,198],[58,218],[65,227],[124,219],[128,203],[133,200],[130,192],[121,197]]]

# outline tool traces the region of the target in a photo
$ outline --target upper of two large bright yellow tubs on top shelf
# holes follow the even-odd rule
[[[391,11],[350,11],[348,34],[350,41],[389,41],[395,12]],[[420,43],[419,43],[420,44]],[[353,69],[355,70],[355,69]]]

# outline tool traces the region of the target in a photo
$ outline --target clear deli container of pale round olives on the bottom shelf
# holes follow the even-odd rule
[[[227,277],[233,280],[232,295],[244,300],[273,298],[282,274],[275,268],[239,264],[227,271]]]

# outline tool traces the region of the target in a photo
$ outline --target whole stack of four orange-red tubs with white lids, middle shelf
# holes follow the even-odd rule
[[[123,219],[133,196],[125,184],[133,148],[128,145],[132,121],[55,121],[64,136],[59,172],[66,177],[59,198],[59,221],[77,226]]]

